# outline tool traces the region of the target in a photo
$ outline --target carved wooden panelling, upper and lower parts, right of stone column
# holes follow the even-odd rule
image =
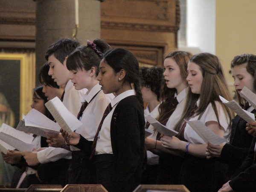
[[[140,66],[163,65],[177,48],[179,0],[106,0],[101,4],[101,38],[130,50]]]

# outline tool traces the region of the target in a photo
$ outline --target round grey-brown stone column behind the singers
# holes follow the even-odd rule
[[[79,28],[76,38],[82,44],[86,40],[100,38],[101,0],[79,0]],[[36,85],[38,73],[46,62],[48,47],[59,38],[72,38],[75,29],[75,0],[36,0]]]

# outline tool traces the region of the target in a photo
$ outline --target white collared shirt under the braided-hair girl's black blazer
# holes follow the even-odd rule
[[[110,135],[110,125],[111,125],[113,111],[115,110],[116,105],[122,99],[132,95],[135,95],[135,91],[128,90],[116,96],[114,99],[112,99],[111,101],[112,110],[110,111],[110,113],[108,113],[108,115],[104,119],[101,131],[99,132],[99,137],[96,143],[96,154],[113,154],[112,146],[111,146],[111,135]]]

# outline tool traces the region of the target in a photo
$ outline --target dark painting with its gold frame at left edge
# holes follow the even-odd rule
[[[16,128],[22,114],[31,110],[34,57],[33,54],[0,53],[0,126],[4,122]]]

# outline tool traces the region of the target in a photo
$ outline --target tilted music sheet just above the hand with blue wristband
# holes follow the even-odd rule
[[[166,126],[162,125],[159,121],[154,119],[152,116],[148,115],[145,116],[145,119],[153,125],[153,127],[160,133],[169,137],[173,137],[178,134],[177,131],[174,131],[172,129],[168,129]]]

